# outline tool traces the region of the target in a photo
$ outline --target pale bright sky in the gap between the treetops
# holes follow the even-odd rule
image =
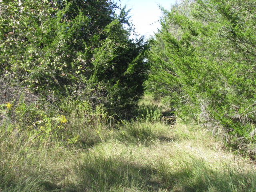
[[[176,0],[121,0],[121,7],[126,5],[126,9],[130,9],[129,16],[136,32],[150,38],[160,28],[158,20],[162,12],[158,4],[170,10],[175,2]]]

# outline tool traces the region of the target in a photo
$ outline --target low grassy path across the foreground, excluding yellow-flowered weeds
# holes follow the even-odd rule
[[[256,191],[255,164],[200,127],[132,122],[97,133],[98,142],[84,149],[16,146],[6,154],[0,192]]]

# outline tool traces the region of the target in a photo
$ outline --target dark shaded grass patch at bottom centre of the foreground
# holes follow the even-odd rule
[[[77,168],[78,192],[159,191],[157,170],[124,161],[122,157],[88,156]]]

